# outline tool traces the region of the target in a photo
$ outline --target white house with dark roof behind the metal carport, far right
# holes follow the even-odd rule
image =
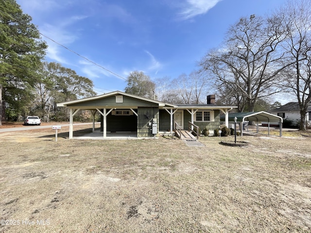
[[[307,111],[306,121],[310,121],[311,105],[309,105]],[[289,102],[279,108],[272,109],[269,112],[276,116],[281,116],[283,119],[293,121],[293,125],[296,125],[300,121],[300,108],[298,102]],[[265,122],[262,123],[264,124]]]

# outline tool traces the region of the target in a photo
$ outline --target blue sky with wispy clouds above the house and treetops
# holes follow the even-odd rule
[[[17,0],[40,33],[126,79],[152,80],[197,69],[240,17],[264,16],[286,0]],[[98,94],[124,91],[126,81],[42,36],[46,60],[91,79]]]

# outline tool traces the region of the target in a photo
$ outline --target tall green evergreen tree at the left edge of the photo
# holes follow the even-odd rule
[[[47,45],[31,20],[15,0],[0,0],[0,125],[6,106],[20,112],[30,102],[45,55]]]

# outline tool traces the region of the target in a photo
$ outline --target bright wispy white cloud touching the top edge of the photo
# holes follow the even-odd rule
[[[181,19],[190,19],[192,17],[207,13],[218,2],[222,0],[186,0],[181,12],[179,13]]]

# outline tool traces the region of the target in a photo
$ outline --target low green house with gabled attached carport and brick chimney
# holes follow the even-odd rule
[[[207,104],[168,104],[157,100],[114,91],[104,95],[58,103],[70,111],[69,138],[72,138],[73,116],[80,109],[90,110],[93,116],[101,114],[103,137],[109,132],[137,132],[137,137],[153,137],[159,133],[174,133],[175,122],[188,130],[188,122],[201,130],[220,129],[220,114],[225,114],[228,127],[228,112],[232,106],[218,106],[215,95],[207,97]],[[93,117],[94,118],[94,117]],[[94,124],[93,124],[94,129]]]

